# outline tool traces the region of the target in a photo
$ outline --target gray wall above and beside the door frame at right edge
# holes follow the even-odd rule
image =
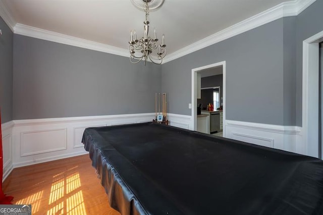
[[[302,126],[303,40],[323,31],[323,0],[316,0],[297,16],[296,125]]]

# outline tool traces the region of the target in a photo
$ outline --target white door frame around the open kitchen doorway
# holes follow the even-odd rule
[[[223,80],[222,80],[222,85],[223,85],[223,136],[226,136],[226,61],[222,61],[219,63],[215,63],[215,64],[210,64],[210,65],[206,65],[203,67],[198,67],[195,69],[192,69],[192,120],[191,120],[191,125],[190,128],[192,128],[191,130],[196,131],[197,130],[197,120],[196,120],[196,107],[197,107],[197,103],[196,103],[196,99],[197,99],[197,73],[200,72],[201,70],[205,70],[205,69],[210,69],[213,67],[220,67],[222,66],[223,68]]]

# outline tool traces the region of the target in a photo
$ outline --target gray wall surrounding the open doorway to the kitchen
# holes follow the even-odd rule
[[[162,65],[161,90],[169,112],[191,115],[191,71],[226,61],[226,119],[289,125],[284,122],[282,18]],[[291,95],[292,96],[292,95]]]

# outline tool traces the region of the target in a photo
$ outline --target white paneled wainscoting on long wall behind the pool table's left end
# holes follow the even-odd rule
[[[12,165],[22,167],[87,153],[85,128],[151,122],[153,113],[14,120]],[[8,140],[6,140],[7,144]]]

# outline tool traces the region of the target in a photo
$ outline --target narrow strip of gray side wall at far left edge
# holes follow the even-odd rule
[[[0,108],[2,123],[12,118],[13,32],[0,17]]]

